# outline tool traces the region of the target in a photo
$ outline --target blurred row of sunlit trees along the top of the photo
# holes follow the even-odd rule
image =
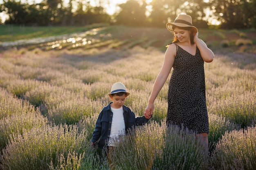
[[[207,28],[213,19],[222,29],[256,28],[256,0],[128,0],[118,4],[119,10],[110,15],[103,5],[110,0],[42,0],[22,3],[3,0],[0,12],[8,15],[3,24],[37,26],[81,26],[93,23],[123,24],[127,26],[165,26],[179,13],[193,18],[193,25]],[[75,7],[74,7],[74,4]]]

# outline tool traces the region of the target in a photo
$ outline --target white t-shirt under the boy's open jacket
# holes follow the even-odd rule
[[[125,135],[124,111],[121,108],[112,108],[113,113],[108,146],[115,146],[115,142],[119,142],[119,137]]]

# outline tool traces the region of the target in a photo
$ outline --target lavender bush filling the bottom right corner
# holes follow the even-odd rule
[[[211,157],[212,169],[248,169],[256,168],[256,127],[247,130],[226,132],[216,145]]]

